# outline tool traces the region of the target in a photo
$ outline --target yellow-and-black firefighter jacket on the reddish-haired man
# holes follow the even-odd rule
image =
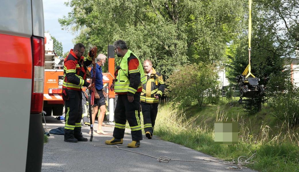
[[[140,101],[146,103],[158,103],[159,99],[156,99],[156,95],[160,98],[164,93],[164,80],[162,75],[152,68],[152,73],[148,75],[144,71],[147,82],[143,84],[142,93],[140,96]]]

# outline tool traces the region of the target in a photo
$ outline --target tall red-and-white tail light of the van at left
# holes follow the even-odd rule
[[[39,114],[43,108],[44,73],[45,73],[45,44],[44,38],[31,37],[32,41],[32,92],[30,114]]]

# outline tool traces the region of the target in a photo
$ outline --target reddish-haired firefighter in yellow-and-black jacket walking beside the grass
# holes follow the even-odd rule
[[[162,75],[152,67],[152,62],[150,60],[145,60],[143,62],[143,67],[147,82],[143,85],[140,96],[141,111],[144,121],[145,136],[148,139],[151,139],[158,113],[159,99],[164,92],[164,81]]]

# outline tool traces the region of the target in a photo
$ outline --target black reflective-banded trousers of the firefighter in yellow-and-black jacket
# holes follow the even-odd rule
[[[158,103],[141,102],[141,111],[143,115],[144,132],[154,132],[155,120],[158,113]]]

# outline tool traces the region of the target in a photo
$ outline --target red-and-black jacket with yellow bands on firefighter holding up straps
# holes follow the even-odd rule
[[[80,59],[73,53],[73,49],[70,50],[68,56],[64,59],[63,64],[63,84],[62,88],[81,90],[82,86],[89,86],[89,82],[86,81],[85,66],[89,66],[92,63],[92,58],[89,55],[86,57],[81,56]],[[84,65],[83,65],[84,63]]]

